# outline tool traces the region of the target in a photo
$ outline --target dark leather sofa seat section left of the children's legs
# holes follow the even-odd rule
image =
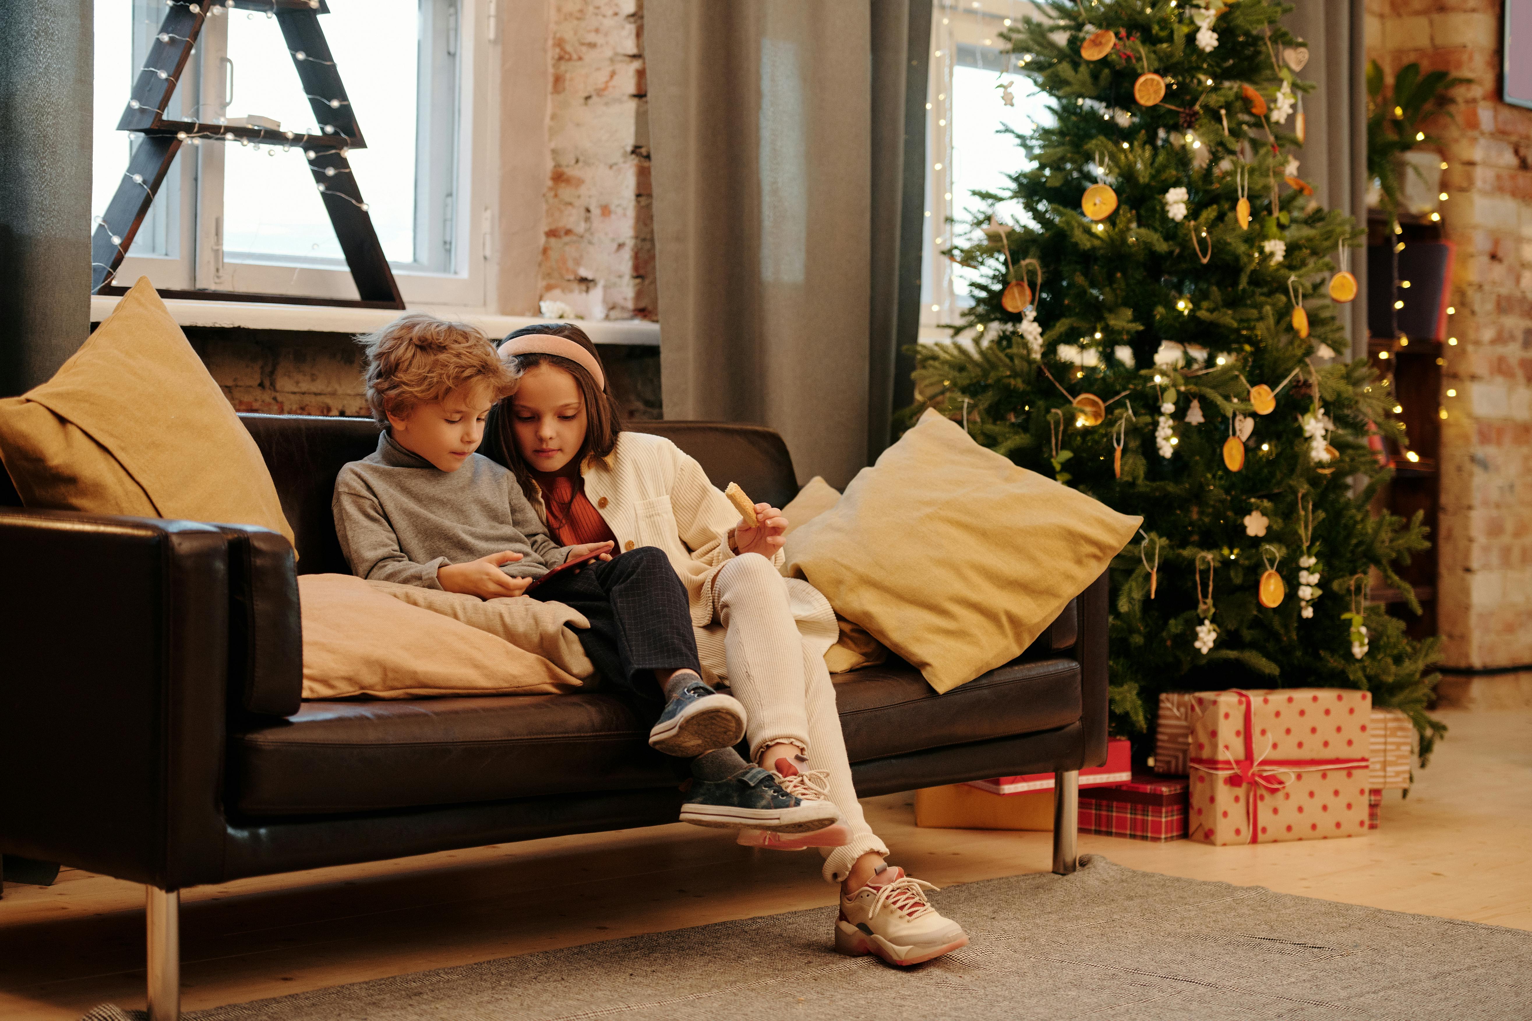
[[[236,805],[251,816],[674,787],[685,764],[602,693],[308,701],[233,739]]]

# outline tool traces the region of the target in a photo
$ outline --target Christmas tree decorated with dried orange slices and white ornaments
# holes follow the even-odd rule
[[[1356,222],[1299,173],[1307,49],[1290,6],[1039,5],[1005,38],[1048,98],[1007,193],[976,193],[961,338],[918,352],[919,412],[1129,514],[1112,563],[1114,727],[1161,690],[1354,687],[1413,718],[1435,640],[1370,605],[1426,548],[1371,510],[1408,449],[1394,396],[1347,361],[1336,302]],[[990,211],[1019,207],[1014,222]]]

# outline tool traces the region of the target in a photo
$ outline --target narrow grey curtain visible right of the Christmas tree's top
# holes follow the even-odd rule
[[[1367,40],[1363,0],[1295,0],[1287,29],[1308,44],[1301,77],[1319,86],[1304,96],[1308,138],[1299,176],[1314,197],[1367,227]],[[1342,312],[1351,357],[1367,354],[1367,250],[1353,250],[1360,297]],[[1344,354],[1344,352],[1342,352]]]

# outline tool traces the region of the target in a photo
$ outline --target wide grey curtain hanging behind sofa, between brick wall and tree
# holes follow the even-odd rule
[[[643,15],[665,416],[772,426],[800,482],[844,485],[889,441],[901,331],[915,341],[919,269],[899,256],[927,47],[912,66],[908,26],[928,32],[928,5],[650,0]]]

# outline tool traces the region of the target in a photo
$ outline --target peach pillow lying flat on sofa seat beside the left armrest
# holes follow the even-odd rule
[[[541,655],[349,574],[305,574],[297,589],[303,698],[545,695],[582,687]]]

